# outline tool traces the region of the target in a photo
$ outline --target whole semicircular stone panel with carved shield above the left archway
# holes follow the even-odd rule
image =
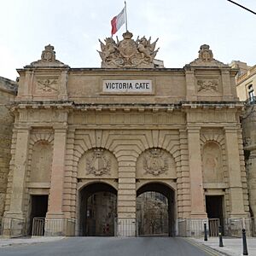
[[[114,155],[103,148],[88,150],[79,160],[79,178],[118,177],[118,162]]]

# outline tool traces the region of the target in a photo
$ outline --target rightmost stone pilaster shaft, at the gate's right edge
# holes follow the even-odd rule
[[[240,156],[236,127],[225,128],[225,143],[230,177],[230,217],[246,217],[242,195]]]

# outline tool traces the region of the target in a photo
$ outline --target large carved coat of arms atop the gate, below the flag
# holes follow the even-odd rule
[[[151,38],[137,38],[133,40],[131,32],[123,34],[123,40],[117,43],[113,38],[106,38],[105,44],[101,40],[98,51],[102,58],[102,67],[154,67],[153,60],[159,49],[155,49],[158,39],[151,44]]]

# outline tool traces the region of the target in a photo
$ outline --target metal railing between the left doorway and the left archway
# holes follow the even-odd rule
[[[32,236],[75,236],[74,218],[33,218]]]

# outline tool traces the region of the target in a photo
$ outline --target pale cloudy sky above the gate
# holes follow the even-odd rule
[[[234,0],[256,12],[256,0]],[[128,30],[159,38],[156,58],[180,68],[209,44],[213,57],[256,64],[256,15],[227,0],[126,0]],[[101,67],[98,39],[111,36],[120,0],[0,0],[0,76],[15,80],[16,68],[41,57],[47,44],[69,67]],[[122,26],[116,35],[125,32]],[[115,36],[113,38],[115,38]]]

